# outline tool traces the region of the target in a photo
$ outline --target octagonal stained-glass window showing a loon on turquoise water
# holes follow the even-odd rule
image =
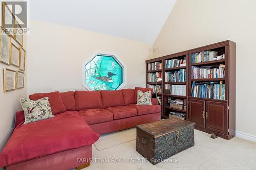
[[[116,90],[123,84],[124,67],[115,56],[97,54],[83,67],[83,85],[89,90]]]

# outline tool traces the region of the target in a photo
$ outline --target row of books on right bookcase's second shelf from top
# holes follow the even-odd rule
[[[224,78],[225,77],[225,65],[220,64],[219,68],[212,68],[211,66],[191,66],[191,78],[192,79],[212,79],[212,78]]]

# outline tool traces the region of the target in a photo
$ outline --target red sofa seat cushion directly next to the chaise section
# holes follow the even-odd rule
[[[110,122],[113,120],[113,114],[105,109],[84,109],[79,111],[88,125]]]

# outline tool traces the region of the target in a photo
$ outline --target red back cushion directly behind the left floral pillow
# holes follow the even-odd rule
[[[58,114],[66,111],[66,107],[64,106],[61,96],[58,91],[50,92],[50,93],[35,93],[29,95],[29,99],[33,101],[37,101],[41,98],[49,98],[49,103],[52,109],[52,114]]]

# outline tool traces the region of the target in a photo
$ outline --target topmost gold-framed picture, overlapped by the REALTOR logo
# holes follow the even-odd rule
[[[15,38],[15,16],[5,2],[2,2],[2,27],[9,28],[6,30]]]

